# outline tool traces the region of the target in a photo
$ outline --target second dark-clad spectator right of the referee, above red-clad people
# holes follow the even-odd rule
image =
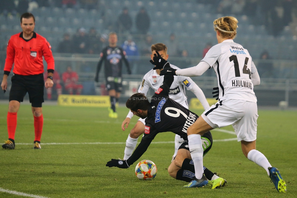
[[[74,42],[74,52],[79,54],[87,54],[88,53],[88,37],[86,36],[86,29],[80,28],[79,35],[75,37]]]

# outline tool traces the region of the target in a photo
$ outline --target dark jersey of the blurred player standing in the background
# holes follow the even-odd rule
[[[100,57],[96,74],[99,73],[103,61],[105,77],[121,77],[122,61],[125,62],[128,73],[131,73],[128,60],[126,59],[126,52],[121,47],[105,47],[100,53]]]

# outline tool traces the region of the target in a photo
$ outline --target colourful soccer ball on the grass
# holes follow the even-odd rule
[[[135,174],[140,180],[152,180],[157,175],[157,167],[150,160],[142,160],[135,167]]]

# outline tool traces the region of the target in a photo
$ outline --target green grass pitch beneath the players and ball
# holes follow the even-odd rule
[[[7,140],[8,105],[0,105],[0,140]],[[202,111],[194,110],[200,115]],[[183,188],[187,182],[169,176],[174,144],[151,144],[138,160],[152,160],[158,173],[152,181],[137,179],[135,162],[128,169],[108,168],[111,158],[123,158],[125,144],[61,144],[122,142],[126,131],[121,123],[128,113],[118,108],[118,119],[108,118],[107,108],[44,106],[41,150],[33,150],[33,116],[29,105],[18,113],[15,150],[0,149],[0,188],[46,197],[296,197],[296,111],[259,110],[257,149],[277,167],[287,183],[287,193],[278,193],[266,171],[244,157],[237,141],[214,142],[204,165],[228,181],[220,189]],[[225,127],[232,130],[231,126]],[[235,135],[212,131],[213,139]],[[141,138],[139,138],[138,142]],[[153,142],[174,141],[173,133],[162,133]],[[0,192],[0,197],[20,197]]]

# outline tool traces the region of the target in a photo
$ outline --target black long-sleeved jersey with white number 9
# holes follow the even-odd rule
[[[138,147],[127,159],[128,165],[136,162],[145,153],[158,133],[171,131],[187,140],[187,128],[198,119],[198,116],[169,98],[173,80],[172,75],[164,75],[163,84],[152,96],[148,116],[145,119],[145,133]]]

